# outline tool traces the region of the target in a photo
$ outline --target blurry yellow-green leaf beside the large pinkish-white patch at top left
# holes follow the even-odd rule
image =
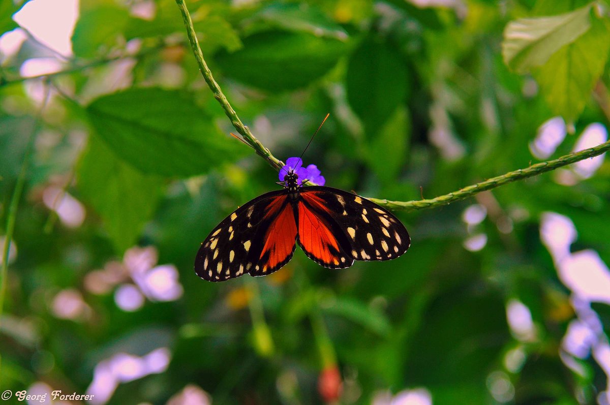
[[[76,56],[93,57],[102,45],[111,46],[122,35],[129,21],[126,10],[113,5],[100,5],[82,10],[72,34],[72,49]]]

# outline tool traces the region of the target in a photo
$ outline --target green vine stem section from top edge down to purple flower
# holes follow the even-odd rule
[[[252,132],[250,132],[250,129],[242,123],[242,120],[239,119],[239,116],[237,116],[237,113],[235,112],[233,107],[231,107],[231,104],[229,104],[227,98],[224,96],[224,93],[220,89],[220,86],[214,80],[214,77],[212,76],[212,71],[210,71],[210,68],[207,67],[206,60],[203,59],[203,53],[201,52],[201,48],[199,47],[199,41],[197,40],[197,35],[195,34],[195,27],[193,27],[193,20],[191,20],[190,13],[188,13],[188,9],[186,4],[184,4],[184,0],[176,0],[176,4],[178,4],[178,7],[180,8],[180,11],[182,13],[184,26],[187,29],[188,41],[190,42],[191,48],[193,48],[193,54],[195,54],[195,59],[197,60],[197,63],[199,65],[199,71],[201,71],[201,74],[203,74],[204,79],[206,79],[207,85],[210,87],[210,90],[212,90],[212,93],[214,93],[214,98],[217,99],[218,102],[220,102],[220,105],[223,107],[224,113],[229,117],[229,120],[231,120],[231,123],[233,124],[237,132],[242,135],[245,142],[247,142],[248,145],[252,146],[252,148],[254,149],[254,151],[256,151],[257,154],[267,160],[271,167],[279,171],[282,166],[284,166],[284,163],[281,160],[277,159],[275,156],[273,156],[269,149],[265,148],[265,146],[260,143],[256,137],[254,137]]]

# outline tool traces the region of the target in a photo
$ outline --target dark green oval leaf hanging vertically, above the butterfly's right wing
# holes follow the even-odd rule
[[[396,49],[367,38],[351,55],[347,98],[369,136],[379,132],[407,96],[407,67]]]

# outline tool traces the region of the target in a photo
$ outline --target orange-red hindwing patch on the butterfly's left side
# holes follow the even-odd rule
[[[281,201],[281,199],[278,199]],[[279,205],[278,205],[279,204]],[[276,212],[281,203],[272,203],[265,215]],[[296,221],[291,204],[285,204],[284,208],[273,220],[265,234],[265,245],[260,251],[259,264],[254,273],[269,274],[278,270],[290,260],[295,251]]]

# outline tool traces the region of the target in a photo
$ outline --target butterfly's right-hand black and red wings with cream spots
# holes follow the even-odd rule
[[[396,259],[411,245],[409,232],[398,218],[361,196],[338,188],[312,186],[301,188],[300,198],[299,245],[324,267],[350,267],[354,260]],[[307,217],[320,218],[323,225],[306,240],[301,235],[301,226],[307,225],[302,223],[301,211],[310,212]],[[327,254],[335,245],[337,253]],[[337,260],[340,265],[336,265]]]

